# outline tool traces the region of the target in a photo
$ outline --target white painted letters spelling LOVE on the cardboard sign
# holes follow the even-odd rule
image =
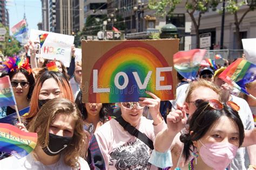
[[[166,86],[160,86],[160,82],[164,81],[166,77],[161,76],[161,72],[172,72],[172,67],[159,67],[156,68],[156,90],[171,90],[171,85]],[[144,82],[140,81],[139,75],[137,72],[132,72],[134,79],[139,87],[139,89],[146,89],[147,84],[149,83],[150,77],[152,75],[152,71],[147,72],[147,75],[144,79]],[[122,76],[124,79],[123,84],[119,84],[119,77]],[[129,77],[124,72],[119,72],[114,77],[114,85],[120,89],[123,90],[127,87],[129,83]],[[93,93],[110,93],[110,88],[98,88],[98,70],[93,69]]]

